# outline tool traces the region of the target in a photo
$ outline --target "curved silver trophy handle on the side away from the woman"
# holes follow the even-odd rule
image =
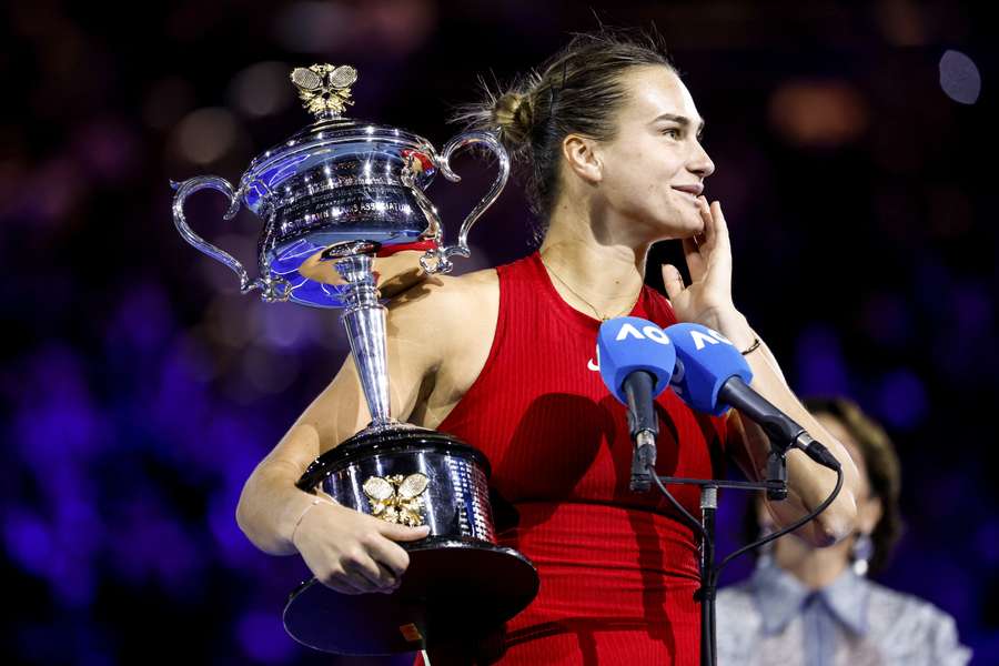
[[[276,280],[270,278],[251,280],[246,269],[233,255],[202,239],[188,224],[188,220],[184,218],[184,201],[199,190],[216,190],[225,194],[229,199],[229,210],[225,211],[222,219],[232,220],[235,216],[236,211],[240,210],[240,199],[233,193],[232,185],[229,184],[228,180],[218,175],[199,175],[182,183],[170,181],[170,186],[176,191],[176,194],[173,195],[173,223],[185,241],[215,261],[222,262],[232,269],[240,278],[240,293],[245,294],[254,289],[259,289],[264,301],[287,300],[291,292],[289,289],[290,284],[285,280],[280,278]]]

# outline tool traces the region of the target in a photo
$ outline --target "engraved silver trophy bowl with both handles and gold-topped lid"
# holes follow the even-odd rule
[[[427,272],[447,272],[451,256],[470,255],[468,231],[500,195],[509,175],[506,151],[491,132],[464,132],[437,152],[416,134],[343,118],[346,104],[353,103],[350,85],[356,78],[356,70],[347,65],[294,70],[292,81],[316,120],[256,155],[238,189],[215,175],[171,183],[176,190],[173,220],[178,231],[196,249],[232,269],[243,293],[258,289],[269,302],[291,300],[317,307],[343,307],[345,285],[325,254],[337,243],[374,243],[379,255],[397,249],[425,249],[421,265]],[[500,173],[465,218],[457,243],[442,248],[443,226],[424,190],[437,171],[451,181],[461,181],[451,169],[451,158],[470,147],[495,155]],[[256,256],[260,278],[251,280],[238,260],[204,241],[188,224],[184,202],[203,189],[216,190],[229,199],[225,220],[235,216],[241,205],[263,220]]]

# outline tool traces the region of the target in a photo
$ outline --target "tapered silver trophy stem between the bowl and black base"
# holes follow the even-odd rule
[[[389,397],[389,353],[385,342],[385,306],[379,303],[379,291],[371,272],[372,258],[355,254],[334,264],[346,281],[344,309],[340,320],[346,327],[351,353],[361,377],[367,411],[369,427],[394,423]]]

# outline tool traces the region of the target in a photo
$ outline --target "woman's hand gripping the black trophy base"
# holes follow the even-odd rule
[[[342,594],[391,594],[410,566],[410,554],[395,542],[418,541],[428,534],[426,525],[395,525],[321,502],[302,516],[292,543],[326,587]]]

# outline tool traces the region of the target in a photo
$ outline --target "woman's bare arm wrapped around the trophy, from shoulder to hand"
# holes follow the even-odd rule
[[[396,418],[434,418],[426,403],[441,383],[442,367],[448,369],[445,361],[470,365],[467,322],[488,320],[476,316],[483,309],[481,283],[474,275],[427,280],[389,306],[390,395]],[[444,383],[453,383],[453,371],[444,372]],[[408,555],[394,542],[426,536],[423,527],[393,525],[332,498],[314,505],[315,496],[295,487],[310,463],[369,421],[357,371],[347,357],[253,471],[236,508],[241,529],[260,549],[274,555],[300,553],[320,581],[344,593],[391,591],[408,565]]]

